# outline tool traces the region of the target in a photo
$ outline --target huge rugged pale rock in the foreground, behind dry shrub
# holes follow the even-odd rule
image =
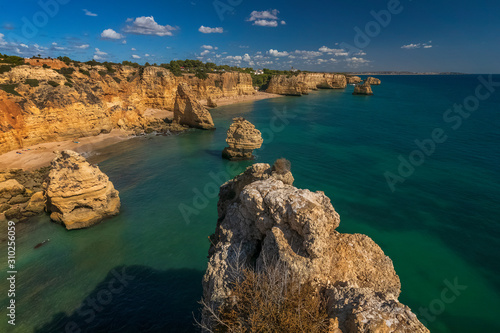
[[[331,331],[428,332],[398,302],[400,281],[382,249],[368,236],[336,231],[330,199],[292,186],[290,172],[275,169],[254,164],[221,186],[204,301],[217,308],[230,300],[235,264],[253,269],[276,260],[329,296]]]

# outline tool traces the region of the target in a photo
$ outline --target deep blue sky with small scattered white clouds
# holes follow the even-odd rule
[[[500,73],[493,0],[2,2],[0,52],[26,57]]]

